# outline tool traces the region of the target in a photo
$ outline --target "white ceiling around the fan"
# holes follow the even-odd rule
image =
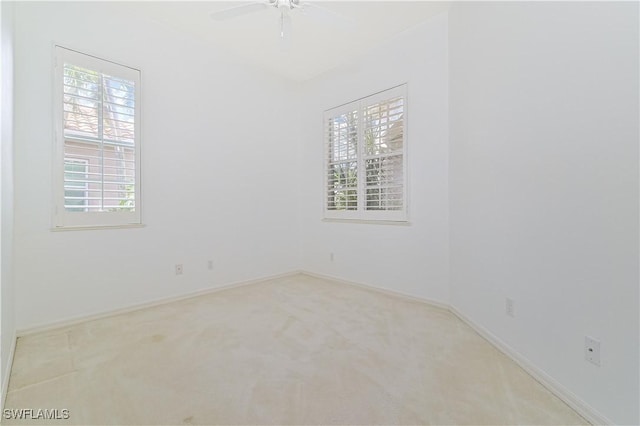
[[[225,21],[216,21],[210,16],[212,12],[249,3],[140,2],[129,3],[127,8],[129,12],[142,14],[227,50],[246,63],[292,80],[304,81],[449,7],[448,2],[433,1],[308,2],[345,19],[333,19],[329,13],[325,13],[329,16],[324,18],[307,16],[300,10],[293,10],[290,13],[291,45],[283,50],[280,12],[275,8],[265,7],[264,10]]]

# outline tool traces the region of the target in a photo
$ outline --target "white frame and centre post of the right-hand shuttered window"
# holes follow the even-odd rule
[[[322,204],[323,204],[323,218],[325,220],[347,220],[347,221],[372,221],[372,222],[395,222],[395,223],[407,223],[409,220],[409,202],[408,202],[408,149],[407,149],[407,134],[408,134],[408,97],[407,97],[407,84],[392,87],[387,90],[375,93],[373,95],[360,98],[358,100],[340,105],[335,108],[331,108],[324,112],[323,117],[323,186],[322,186]],[[366,210],[366,186],[365,186],[365,156],[364,156],[364,125],[363,125],[363,111],[366,106],[370,106],[377,102],[384,100],[402,97],[403,103],[403,132],[402,132],[402,208],[400,210]],[[328,207],[328,187],[329,187],[329,120],[332,117],[339,116],[341,114],[358,111],[358,145],[357,145],[357,197],[358,204],[357,210],[330,210]]]

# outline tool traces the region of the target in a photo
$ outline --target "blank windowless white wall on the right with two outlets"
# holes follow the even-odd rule
[[[449,29],[452,303],[638,424],[638,4],[455,4]]]

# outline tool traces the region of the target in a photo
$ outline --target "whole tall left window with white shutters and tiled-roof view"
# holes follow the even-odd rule
[[[140,71],[56,47],[54,224],[140,224]]]

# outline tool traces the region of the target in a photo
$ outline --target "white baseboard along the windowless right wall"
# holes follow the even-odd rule
[[[538,368],[522,354],[514,350],[511,346],[504,343],[486,328],[476,324],[469,317],[458,311],[455,307],[449,307],[452,314],[460,318],[462,322],[471,327],[476,333],[491,343],[500,352],[511,358],[531,377],[538,381],[542,386],[547,388],[552,394],[561,399],[565,404],[571,407],[575,412],[584,417],[592,425],[613,425],[614,423],[600,414],[596,409],[586,402],[578,398],[573,392],[558,383],[553,377]]]

